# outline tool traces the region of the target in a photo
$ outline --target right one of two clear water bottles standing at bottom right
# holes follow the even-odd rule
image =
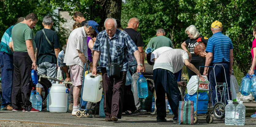
[[[245,124],[245,106],[243,101],[238,101],[239,104],[235,107],[235,125]]]

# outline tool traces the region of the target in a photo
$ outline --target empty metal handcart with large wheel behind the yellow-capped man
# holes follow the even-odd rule
[[[216,66],[221,66],[224,70],[224,74],[226,74],[225,72],[225,68],[223,65],[221,64],[216,64],[213,67],[213,72],[214,72],[214,79],[216,81],[216,74],[215,74],[215,67]],[[228,85],[227,85],[227,77],[225,75],[225,81],[224,83],[216,83],[215,86],[215,92],[216,92],[216,103],[213,105],[213,115],[215,116],[215,118],[217,119],[223,119],[225,117],[225,106],[226,106],[226,100],[231,100],[231,98],[229,97],[229,94],[227,94],[228,98],[226,97],[226,92],[229,93],[228,90]],[[218,99],[217,93],[220,93],[220,100]],[[234,101],[233,102],[234,105],[237,105],[238,102]]]

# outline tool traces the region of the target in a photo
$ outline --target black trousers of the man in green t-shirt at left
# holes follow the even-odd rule
[[[27,111],[32,109],[29,101],[31,93],[31,66],[32,61],[27,52],[15,51],[13,53],[13,89],[12,89],[12,106],[13,109],[20,109],[21,104],[18,101],[21,94],[23,108]]]

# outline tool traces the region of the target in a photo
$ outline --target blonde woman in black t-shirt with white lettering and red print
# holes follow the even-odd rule
[[[189,51],[192,54],[192,60],[190,63],[192,63],[199,70],[200,66],[204,66],[205,58],[195,55],[194,48],[196,47],[197,44],[199,44],[198,42],[203,42],[206,45],[208,42],[208,38],[200,35],[196,26],[194,25],[190,25],[189,27],[187,27],[185,30],[185,33],[188,35],[189,39],[184,41],[181,44],[181,48],[185,51]],[[189,79],[191,78],[191,76],[197,75],[188,67],[187,67],[187,71],[188,71]],[[201,70],[199,71],[201,74],[203,74],[204,69],[201,68]]]

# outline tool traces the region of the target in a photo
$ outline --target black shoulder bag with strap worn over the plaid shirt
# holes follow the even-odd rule
[[[109,39],[106,37],[107,41],[107,51],[108,51],[108,67],[109,67],[109,77],[110,78],[120,78],[120,69],[122,65],[116,63],[110,63],[110,53],[109,53]]]

